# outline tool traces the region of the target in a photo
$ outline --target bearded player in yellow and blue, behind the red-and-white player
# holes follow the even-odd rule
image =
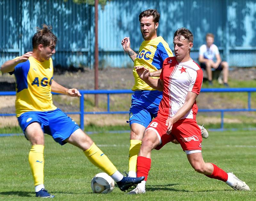
[[[162,36],[157,36],[158,22],[160,14],[157,10],[148,9],[140,13],[140,31],[144,41],[136,54],[130,47],[130,38],[125,37],[121,44],[124,51],[134,62],[134,66],[144,66],[149,69],[149,76],[159,77],[162,71],[164,59],[173,57],[172,50]],[[133,68],[135,84],[132,88],[132,106],[130,108],[130,150],[129,150],[129,172],[128,176],[136,177],[137,156],[140,151],[141,140],[148,124],[156,117],[158,106],[162,99],[162,91],[157,91],[148,86],[138,76]],[[203,137],[207,138],[208,133],[204,127],[199,126],[204,131]],[[176,140],[173,143],[178,143]]]

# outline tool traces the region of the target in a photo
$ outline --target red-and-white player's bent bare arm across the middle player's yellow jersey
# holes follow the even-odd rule
[[[134,66],[134,68],[136,69],[140,79],[145,81],[150,87],[158,91],[163,90],[163,81],[149,77],[150,71],[148,68],[145,68],[144,66]]]

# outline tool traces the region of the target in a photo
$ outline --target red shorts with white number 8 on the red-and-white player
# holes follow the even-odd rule
[[[183,151],[189,150],[202,150],[202,135],[201,130],[197,126],[194,119],[180,119],[172,126],[172,132],[170,135],[166,134],[167,126],[165,125],[166,118],[157,116],[146,130],[154,130],[160,140],[160,144],[156,147],[156,150],[161,149],[165,144],[176,139]]]

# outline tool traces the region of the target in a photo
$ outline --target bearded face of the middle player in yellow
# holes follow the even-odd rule
[[[143,17],[140,19],[140,31],[145,41],[156,38],[156,29],[158,22],[155,23],[153,16]]]

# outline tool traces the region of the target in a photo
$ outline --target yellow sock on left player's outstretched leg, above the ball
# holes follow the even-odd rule
[[[108,159],[108,157],[94,143],[84,151],[85,156],[92,162],[93,165],[99,167],[108,175],[114,174],[117,169]]]

